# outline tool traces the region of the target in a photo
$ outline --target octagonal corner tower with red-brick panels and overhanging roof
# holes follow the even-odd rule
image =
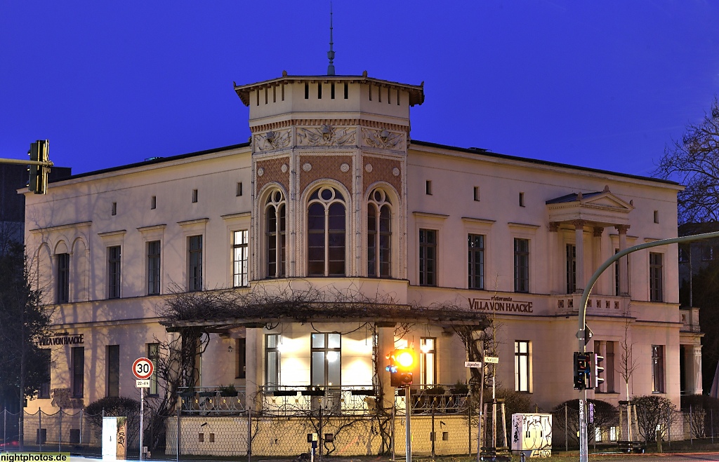
[[[422,85],[377,80],[366,72],[304,77],[283,72],[278,79],[238,85],[235,91],[249,106],[253,214],[277,216],[287,230],[294,230],[286,239],[286,268],[278,260],[270,269],[255,268],[256,274],[261,278],[314,274],[304,245],[311,237],[306,235],[311,225],[305,211],[313,201],[339,202],[347,209],[344,226],[351,236],[347,244],[357,258],[348,258],[344,275],[364,273],[357,232],[365,227],[367,206],[362,204],[370,194],[393,204],[398,214],[393,239],[397,248],[406,246],[409,113],[411,106],[424,100]],[[275,232],[273,220],[254,220],[252,226],[255,235]],[[274,255],[260,247],[255,251]],[[404,263],[393,263],[400,278],[406,276]]]

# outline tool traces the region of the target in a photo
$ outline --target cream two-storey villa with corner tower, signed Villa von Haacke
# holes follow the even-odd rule
[[[57,308],[50,384],[30,407],[137,397],[132,362],[173,335],[159,308],[174,287],[322,302],[303,319],[268,309],[188,321],[209,333],[198,387],[388,390],[385,354],[403,346],[419,355],[418,392],[447,387],[470,379],[457,327],[494,318],[499,385],[551,409],[578,397],[572,352],[590,275],[618,250],[677,236],[671,181],[411,139],[422,86],[285,73],[235,90],[249,106],[249,143],[26,193],[27,252]],[[365,314],[348,308],[357,301]],[[625,341],[631,395],[679,405],[702,392],[698,315],[679,309],[676,245],[606,271],[587,325],[587,349],[605,357],[590,397],[626,399]]]

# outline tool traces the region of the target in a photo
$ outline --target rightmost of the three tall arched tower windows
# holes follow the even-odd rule
[[[392,275],[392,203],[382,189],[375,189],[367,202],[367,275]]]

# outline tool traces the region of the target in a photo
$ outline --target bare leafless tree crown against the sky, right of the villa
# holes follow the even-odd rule
[[[690,124],[679,141],[667,146],[656,176],[684,184],[679,191],[680,223],[719,221],[719,100],[700,123]]]

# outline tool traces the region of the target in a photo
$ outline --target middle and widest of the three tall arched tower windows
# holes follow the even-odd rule
[[[344,276],[344,197],[333,187],[313,192],[307,205],[307,275]]]

